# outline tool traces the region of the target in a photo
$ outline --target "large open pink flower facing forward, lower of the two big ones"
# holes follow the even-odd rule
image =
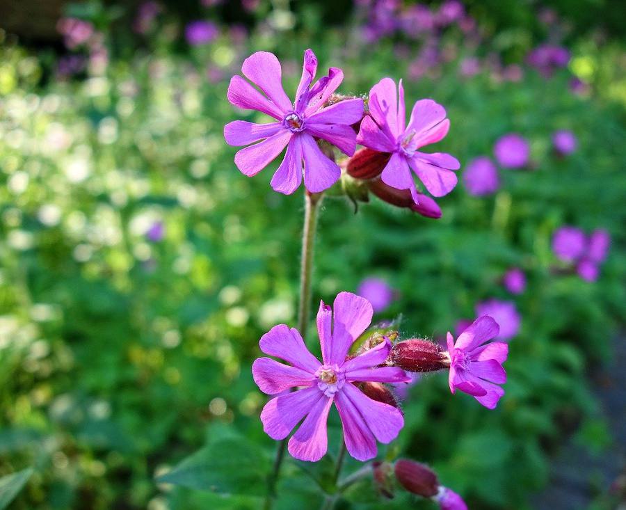
[[[317,330],[323,363],[307,350],[295,328],[280,324],[261,337],[264,353],[291,365],[270,358],[258,358],[252,365],[252,376],[262,392],[281,394],[263,408],[263,429],[273,439],[284,439],[304,418],[289,439],[289,453],[296,459],[319,461],[326,454],[326,420],[333,402],[344,427],[346,448],[360,461],[376,456],[376,440],[390,443],[402,429],[404,419],[397,408],[366,397],[353,384],[410,381],[402,369],[378,367],[389,356],[391,342],[385,339],[360,356],[346,359],[373,313],[367,299],[350,292],[340,292],[332,309],[322,301]],[[301,388],[285,393],[295,387]]]

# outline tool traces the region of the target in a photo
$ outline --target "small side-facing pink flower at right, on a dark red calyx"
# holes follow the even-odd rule
[[[452,334],[448,332],[447,335],[450,391],[461,390],[472,395],[488,409],[495,408],[504,395],[499,384],[506,383],[502,363],[508,356],[508,345],[489,342],[499,337],[498,333],[497,322],[492,317],[483,316],[458,336],[456,344]]]

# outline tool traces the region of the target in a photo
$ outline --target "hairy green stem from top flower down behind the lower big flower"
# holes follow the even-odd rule
[[[315,248],[315,233],[317,228],[317,212],[323,198],[321,193],[309,193],[305,191],[305,218],[302,232],[302,257],[300,259],[300,301],[298,301],[298,331],[306,340],[311,312],[311,279],[313,273],[313,253]],[[274,467],[268,478],[267,497],[264,510],[271,510],[276,496],[276,484],[280,477],[280,466],[284,459],[284,451],[287,449],[287,439],[278,443]]]

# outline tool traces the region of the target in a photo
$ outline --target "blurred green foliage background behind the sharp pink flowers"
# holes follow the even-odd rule
[[[380,319],[402,314],[406,337],[441,337],[488,298],[522,316],[498,408],[426,376],[387,456],[431,463],[472,509],[519,510],[543,508],[573,443],[581,465],[612,459],[581,468],[584,507],[617,507],[625,399],[611,417],[602,392],[618,384],[626,317],[623,2],[468,1],[451,21],[454,2],[39,4],[0,7],[0,474],[35,468],[12,508],[259,508],[154,477],[220,437],[258,452],[259,472],[269,465],[250,364],[262,333],[295,322],[303,196],[274,193],[270,169],[236,170],[223,125],[262,115],[225,95],[259,49],[279,56],[291,95],[307,47],[321,70],[344,70],[344,93],[390,76],[408,103],[443,104],[451,129],[435,150],[461,161],[460,176],[503,134],[531,147],[531,168],[500,169],[492,196],[460,182],[440,220],[374,199],[358,214],[323,202],[314,302],[380,276],[397,292]],[[417,7],[425,29],[388,26]],[[68,18],[84,30],[63,28]],[[214,27],[200,44],[185,35],[198,19]],[[529,65],[546,43],[567,47],[568,63]],[[557,129],[578,140],[566,157]],[[596,282],[555,269],[562,225],[610,232]],[[527,274],[520,296],[501,285],[512,266]],[[319,506],[300,467],[286,467],[278,508]],[[340,508],[434,508],[371,492]],[[579,504],[562,503],[551,508]]]

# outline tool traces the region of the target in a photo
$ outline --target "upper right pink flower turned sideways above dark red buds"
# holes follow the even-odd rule
[[[357,141],[380,152],[391,152],[387,166],[380,175],[385,184],[396,189],[410,189],[415,203],[419,196],[411,169],[435,197],[447,195],[456,186],[460,164],[450,154],[419,152],[424,145],[446,136],[450,121],[443,106],[432,99],[421,99],[413,106],[406,125],[404,89],[391,78],[383,78],[369,91],[369,116],[361,122]]]

